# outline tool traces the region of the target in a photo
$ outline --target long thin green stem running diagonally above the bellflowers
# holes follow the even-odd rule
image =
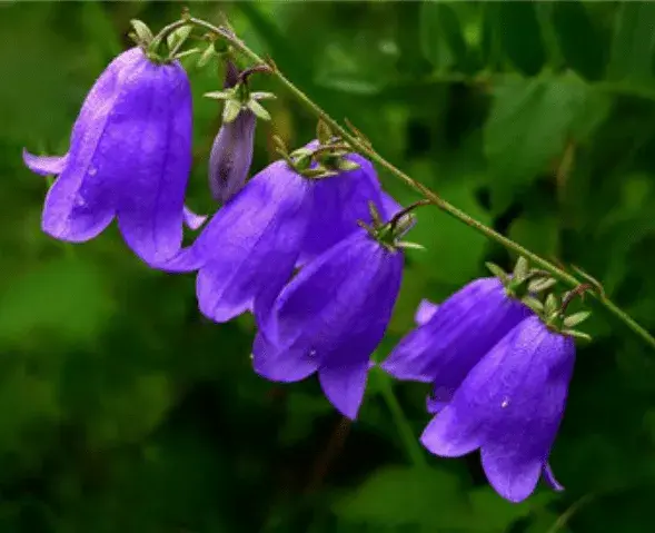
[[[553,263],[539,257],[538,255],[532,253],[530,250],[524,248],[519,244],[515,243],[512,239],[508,239],[504,235],[499,234],[498,231],[494,230],[493,228],[485,226],[480,221],[472,218],[466,213],[459,210],[457,207],[453,206],[448,201],[440,198],[436,193],[427,188],[425,185],[416,181],[407,174],[405,174],[399,168],[396,168],[391,162],[387,161],[383,156],[380,156],[376,150],[373,149],[365,140],[358,138],[357,136],[353,135],[346,128],[344,128],[339,122],[337,122],[334,118],[331,118],[326,111],[324,111],[318,105],[316,105],[302,90],[300,90],[296,85],[294,85],[288,78],[282,75],[277,67],[270,65],[270,62],[265,61],[261,57],[259,57],[256,52],[254,52],[250,48],[246,46],[244,41],[239,38],[234,36],[230,31],[227,31],[224,28],[216,27],[205,20],[189,18],[187,22],[193,23],[198,27],[205,28],[208,31],[216,33],[217,36],[226,39],[229,41],[237,50],[239,50],[244,56],[248,57],[256,63],[267,63],[271,67],[271,75],[275,76],[288,90],[291,92],[307,109],[318,116],[325,124],[327,124],[334,132],[338,132],[339,136],[347,140],[353,148],[355,148],[359,154],[366,156],[367,158],[371,159],[373,161],[377,162],[380,167],[386,168],[389,172],[394,176],[399,178],[400,180],[405,181],[409,187],[415,189],[416,191],[420,193],[425,198],[427,198],[431,204],[437,206],[443,211],[447,213],[454,218],[457,218],[459,221],[470,226],[476,231],[485,235],[487,238],[495,240],[499,245],[504,246],[505,248],[516,253],[517,255],[524,256],[526,259],[529,259],[530,263],[534,265],[547,270],[553,277],[559,279],[560,282],[572,286],[577,287],[580,282],[575,277],[565,272],[564,269],[557,267]],[[607,87],[606,89],[609,89]],[[614,303],[607,299],[605,296],[591,293],[603,307],[605,307],[609,313],[616,316],[621,322],[623,322],[628,328],[633,330],[638,337],[641,337],[646,344],[651,347],[655,348],[655,337],[651,335],[643,326],[641,326],[637,322],[635,322],[629,315],[627,315],[624,310],[617,307]]]

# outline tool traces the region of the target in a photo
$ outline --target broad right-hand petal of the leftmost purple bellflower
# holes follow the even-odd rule
[[[150,264],[173,257],[191,169],[191,89],[178,62],[146,61],[99,150],[108,156],[100,165],[120,182],[118,224],[128,246]]]

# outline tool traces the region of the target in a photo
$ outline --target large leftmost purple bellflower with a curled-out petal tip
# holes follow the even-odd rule
[[[118,56],[98,78],[62,157],[23,152],[26,165],[58,175],[42,229],[81,243],[113,219],[145,261],[166,260],[182,240],[191,167],[191,91],[178,61],[157,63],[141,48]]]

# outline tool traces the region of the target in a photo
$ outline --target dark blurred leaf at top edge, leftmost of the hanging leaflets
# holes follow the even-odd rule
[[[466,60],[467,46],[462,24],[450,3],[424,1],[419,33],[423,55],[438,72],[462,66]]]

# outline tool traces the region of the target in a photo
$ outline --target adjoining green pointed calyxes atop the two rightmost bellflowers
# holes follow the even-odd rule
[[[584,293],[574,289],[559,297],[555,293],[549,292],[549,289],[555,287],[557,280],[544,270],[529,268],[525,257],[518,258],[512,274],[507,274],[498,265],[493,263],[487,263],[486,266],[492,274],[500,279],[507,296],[518,299],[529,307],[548,329],[584,340],[592,339],[586,333],[574,329],[577,325],[586,320],[591,316],[591,313],[588,310],[582,310],[570,315],[566,314],[567,306],[573,298],[575,296],[582,296]]]

